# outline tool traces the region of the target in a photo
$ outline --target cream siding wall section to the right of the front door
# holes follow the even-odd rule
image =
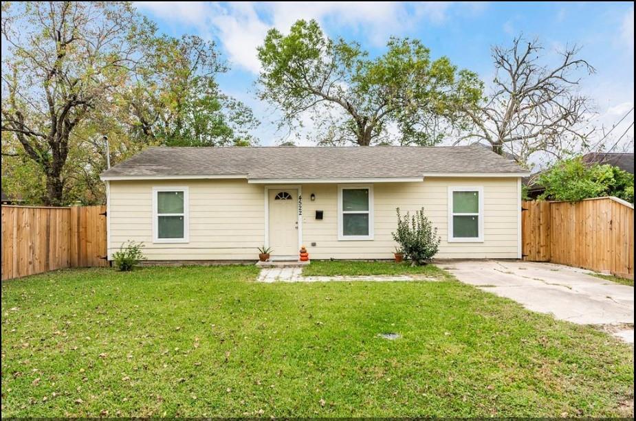
[[[313,259],[391,259],[395,242],[391,233],[402,214],[424,207],[441,237],[436,258],[516,259],[518,257],[518,179],[428,178],[423,183],[376,183],[373,186],[373,240],[338,241],[337,185],[303,185],[303,242]],[[483,187],[483,242],[448,240],[448,187]],[[310,201],[311,193],[316,195]],[[314,218],[324,211],[323,219]],[[316,242],[316,247],[311,247]]]

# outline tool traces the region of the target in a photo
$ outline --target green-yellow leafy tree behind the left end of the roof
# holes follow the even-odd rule
[[[148,62],[122,96],[131,135],[167,146],[251,144],[258,125],[252,111],[219,90],[228,70],[215,44],[198,36],[153,38]],[[131,118],[130,118],[131,117]]]

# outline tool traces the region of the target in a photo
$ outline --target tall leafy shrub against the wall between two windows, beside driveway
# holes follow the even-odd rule
[[[410,216],[408,212],[404,218],[397,211],[397,231],[392,233],[393,240],[404,251],[404,257],[410,259],[412,264],[425,264],[429,262],[439,249],[441,239],[437,236],[437,228],[424,215],[424,207],[415,211]]]

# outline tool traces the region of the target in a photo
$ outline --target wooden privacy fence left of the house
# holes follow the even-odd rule
[[[105,206],[2,206],[2,280],[107,266],[105,212]]]

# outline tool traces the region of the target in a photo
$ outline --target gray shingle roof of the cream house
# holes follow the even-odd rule
[[[527,171],[481,146],[230,147],[149,148],[101,175],[371,179],[423,177],[426,173],[439,172],[514,175]]]

